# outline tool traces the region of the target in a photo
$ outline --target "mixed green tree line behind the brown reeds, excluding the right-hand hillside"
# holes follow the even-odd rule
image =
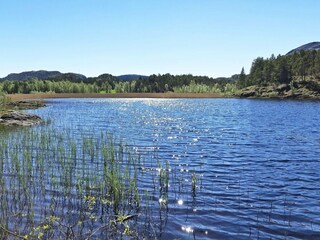
[[[48,80],[30,79],[25,81],[2,81],[0,91],[13,93],[164,93],[164,92],[226,92],[234,90],[233,78],[209,78],[188,75],[151,75],[131,81],[103,74],[95,78],[53,78]]]

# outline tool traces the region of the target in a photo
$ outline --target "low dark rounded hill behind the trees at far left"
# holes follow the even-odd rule
[[[28,71],[21,73],[11,73],[8,76],[2,78],[1,80],[17,80],[17,81],[25,81],[32,78],[37,78],[40,80],[53,79],[53,78],[72,78],[76,80],[85,80],[86,76],[77,73],[61,73],[59,71]]]

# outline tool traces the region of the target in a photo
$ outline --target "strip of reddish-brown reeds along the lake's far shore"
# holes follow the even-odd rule
[[[225,98],[219,93],[36,93],[7,96],[11,101],[46,98]]]

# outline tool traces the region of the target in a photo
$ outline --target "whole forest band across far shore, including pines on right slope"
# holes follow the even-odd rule
[[[300,51],[289,55],[273,54],[270,58],[258,57],[251,65],[249,74],[244,68],[230,78],[207,76],[151,75],[130,81],[118,79],[111,74],[76,79],[71,75],[47,80],[0,81],[3,93],[224,93],[237,94],[249,86],[278,86],[294,82],[312,81],[312,90],[320,85],[320,51]],[[301,86],[301,85],[299,85]]]

